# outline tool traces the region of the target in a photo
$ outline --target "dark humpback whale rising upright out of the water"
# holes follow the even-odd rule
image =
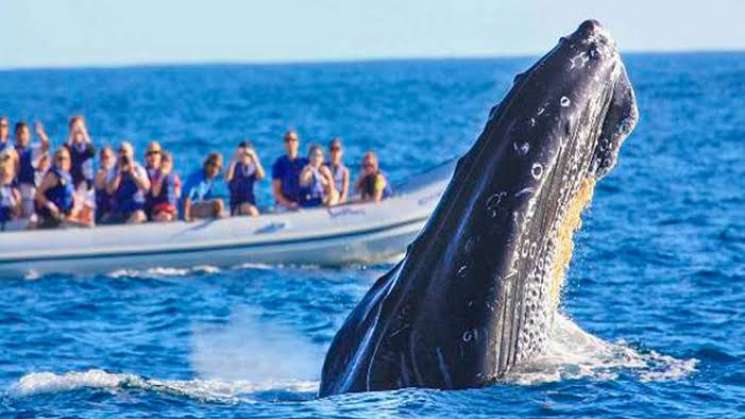
[[[319,395],[479,387],[540,354],[580,214],[637,119],[596,21],[518,75],[404,259],[336,334]]]

